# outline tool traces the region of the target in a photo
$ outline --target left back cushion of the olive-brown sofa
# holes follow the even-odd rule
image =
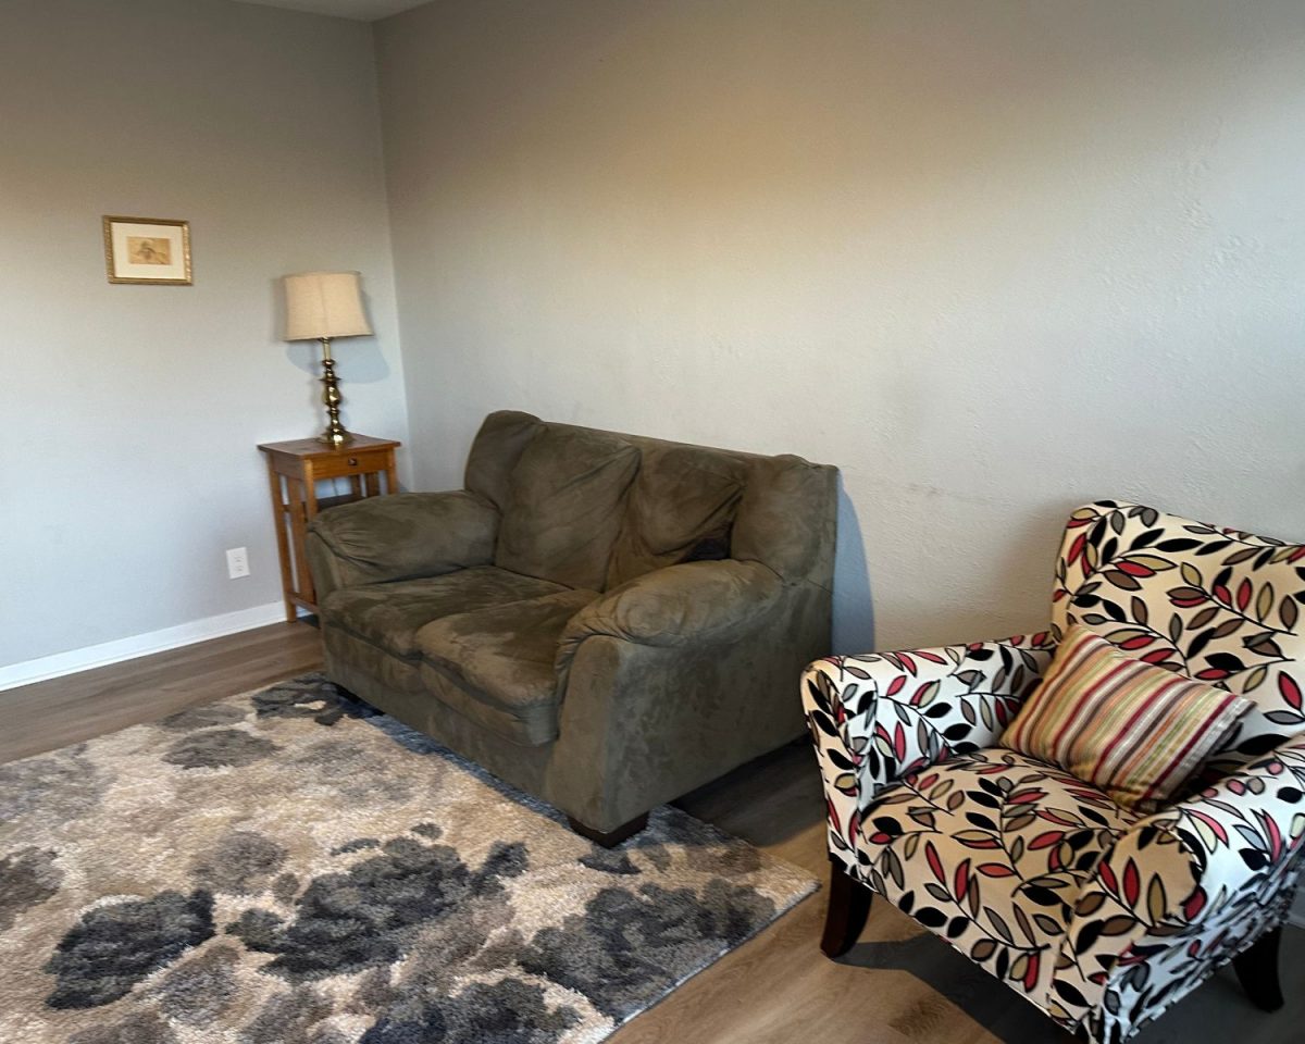
[[[639,452],[621,436],[547,424],[506,485],[495,564],[602,590]]]

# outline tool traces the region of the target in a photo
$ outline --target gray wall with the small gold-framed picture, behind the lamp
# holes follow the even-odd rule
[[[254,444],[321,407],[278,275],[363,273],[345,419],[407,432],[371,27],[227,0],[0,0],[0,25],[4,666],[279,599]],[[189,219],[194,286],[110,286],[102,214]]]

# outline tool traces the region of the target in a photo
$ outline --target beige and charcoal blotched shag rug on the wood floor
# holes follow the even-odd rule
[[[0,1040],[594,1041],[814,882],[604,851],[320,675],[0,766]]]

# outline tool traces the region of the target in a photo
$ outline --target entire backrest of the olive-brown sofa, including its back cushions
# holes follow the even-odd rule
[[[800,457],[667,442],[500,411],[466,487],[502,513],[496,564],[609,590],[701,559],[760,561],[830,587],[837,470]]]

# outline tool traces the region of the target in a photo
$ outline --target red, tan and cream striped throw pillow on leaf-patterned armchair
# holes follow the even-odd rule
[[[1075,625],[1001,744],[1150,812],[1248,710],[1249,699],[1143,663]]]

